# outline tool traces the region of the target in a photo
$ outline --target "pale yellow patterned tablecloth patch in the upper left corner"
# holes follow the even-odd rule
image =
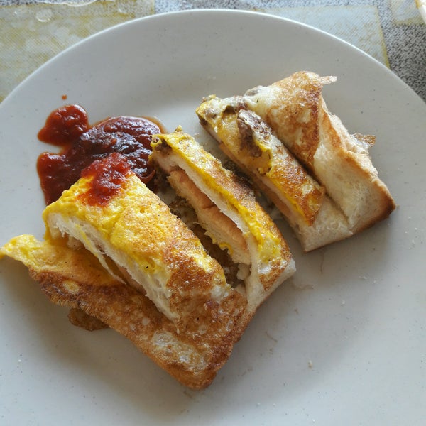
[[[0,102],[62,50],[105,28],[153,13],[153,0],[0,7]]]

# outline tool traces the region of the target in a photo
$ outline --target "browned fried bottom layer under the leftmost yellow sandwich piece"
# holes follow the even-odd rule
[[[43,244],[52,246],[48,241],[40,243],[33,236],[24,235],[22,237],[31,238],[31,241],[35,244],[33,249],[43,249]],[[20,236],[13,240],[19,238]],[[9,248],[7,248],[8,245]],[[148,300],[147,297],[131,286],[112,278],[102,268],[97,259],[92,256],[92,253],[85,249],[77,252],[61,246],[60,251],[53,253],[53,256],[61,256],[60,261],[69,261],[74,265],[78,264],[79,261],[83,265],[87,261],[90,262],[91,267],[85,268],[84,271],[79,271],[77,267],[72,268],[70,270],[71,277],[64,275],[63,268],[62,273],[53,271],[43,262],[40,264],[40,268],[36,268],[34,259],[31,260],[30,257],[34,258],[33,254],[26,256],[19,250],[13,251],[9,243],[0,248],[0,256],[9,256],[23,263],[28,268],[31,278],[38,282],[40,289],[51,302],[56,305],[82,310],[87,315],[104,322],[111,329],[129,339],[143,354],[146,354],[155,364],[158,364],[160,368],[163,368],[182,385],[195,390],[206,388],[212,383],[219,369],[229,359],[234,344],[241,338],[241,334],[247,325],[247,317],[244,316],[244,305],[237,305],[238,309],[234,317],[234,324],[231,325],[226,334],[217,335],[217,330],[214,329],[214,322],[226,322],[226,327],[228,327],[228,319],[224,317],[224,312],[222,312],[222,316],[218,315],[218,313],[215,314],[212,317],[212,322],[207,324],[207,327],[212,327],[210,336],[212,337],[212,342],[214,342],[214,346],[210,347],[209,342],[206,342],[205,339],[198,342],[199,337],[185,337],[185,334],[179,334],[174,324],[158,312],[151,300]],[[99,285],[99,281],[102,281],[101,285]],[[238,292],[234,291],[231,297],[225,301],[223,308],[226,310],[226,303],[229,303],[231,309],[234,309],[233,304],[235,302],[238,304],[240,296]],[[119,312],[117,312],[117,304],[120,308]],[[127,321],[123,322],[123,315],[130,314],[136,315],[139,319],[140,314],[142,314],[143,318],[147,318],[148,321],[146,324],[138,324],[135,321],[131,321],[131,318],[129,321],[128,317]],[[148,324],[154,327],[151,332],[151,338],[157,332],[164,333],[172,335],[175,342],[190,346],[194,354],[203,356],[203,352],[207,352],[207,362],[204,368],[194,368],[195,366],[191,366],[190,362],[185,364],[179,361],[179,354],[173,353],[173,350],[175,350],[175,345],[173,344],[171,346],[168,345],[163,350],[153,348],[148,334],[143,332],[144,326]]]

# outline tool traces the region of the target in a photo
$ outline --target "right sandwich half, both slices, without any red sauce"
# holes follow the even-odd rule
[[[275,203],[305,251],[345,239],[395,209],[368,155],[322,98],[334,77],[297,72],[243,96],[204,99],[196,112],[222,151]]]

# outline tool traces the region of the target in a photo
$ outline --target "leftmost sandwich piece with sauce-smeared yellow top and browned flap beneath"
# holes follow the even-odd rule
[[[97,161],[43,212],[45,241],[1,248],[50,300],[129,337],[190,388],[204,388],[241,337],[246,298],[119,154]]]

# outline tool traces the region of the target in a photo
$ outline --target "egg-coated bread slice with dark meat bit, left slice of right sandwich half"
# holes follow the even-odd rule
[[[288,219],[305,251],[352,235],[346,217],[241,97],[208,97],[202,126]]]

